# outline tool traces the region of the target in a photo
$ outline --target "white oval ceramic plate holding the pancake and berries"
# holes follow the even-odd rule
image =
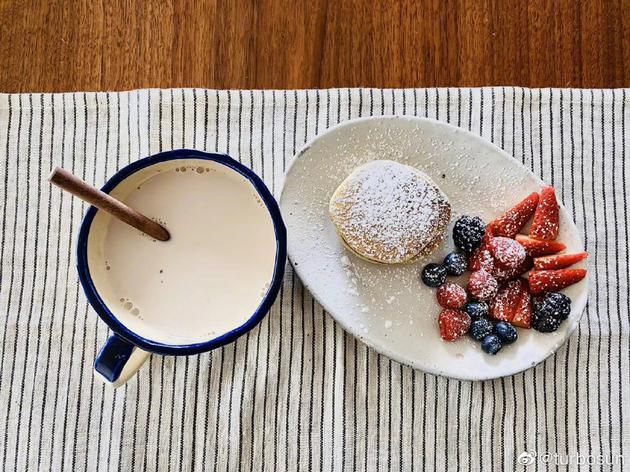
[[[372,264],[345,250],[337,236],[328,201],[355,167],[375,159],[424,171],[449,197],[453,208],[449,238],[425,260],[412,265]],[[426,263],[439,262],[454,249],[450,229],[457,217],[479,215],[490,221],[542,184],[492,143],[445,123],[413,117],[347,121],[306,144],[287,173],[280,206],[289,260],[324,309],[378,352],[458,379],[511,375],[541,362],[569,337],[586,305],[587,280],[565,290],[573,301],[572,311],[558,331],[519,329],[516,343],[489,356],[468,337],[442,341],[435,290],[424,286],[418,275]],[[569,214],[562,208],[560,215],[558,239],[567,252],[583,250]]]

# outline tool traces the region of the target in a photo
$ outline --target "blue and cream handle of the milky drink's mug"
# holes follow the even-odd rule
[[[94,371],[103,382],[120,387],[133,377],[149,354],[114,333],[96,356]]]

